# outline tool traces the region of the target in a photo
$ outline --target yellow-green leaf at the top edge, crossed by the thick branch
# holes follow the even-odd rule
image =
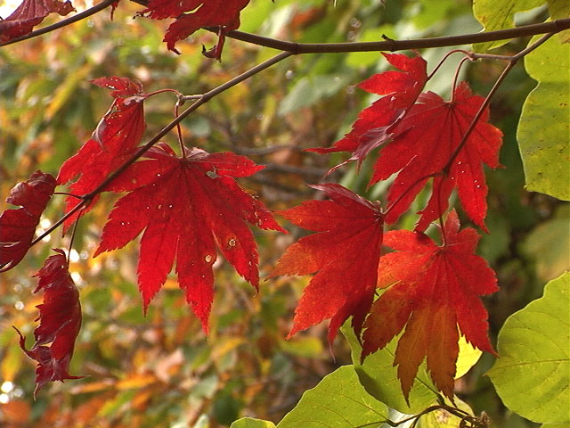
[[[545,0],[474,0],[473,14],[485,27],[485,31],[511,29],[515,27],[515,13],[530,11],[544,3]],[[506,43],[509,40],[477,43],[473,48],[477,52],[485,52]]]

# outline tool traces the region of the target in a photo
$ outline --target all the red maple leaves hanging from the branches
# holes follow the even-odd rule
[[[151,0],[141,14],[175,20],[164,41],[176,53],[177,42],[198,29],[215,27],[218,42],[206,56],[219,59],[224,37],[239,27],[240,11],[247,5],[248,0]],[[67,3],[39,0],[26,0],[21,7],[0,22],[1,41],[29,32],[49,12],[70,11]],[[369,184],[395,176],[387,200],[371,202],[334,183],[314,185],[329,199],[303,202],[278,214],[315,233],[293,243],[269,277],[315,274],[299,300],[289,337],[330,319],[332,342],[352,317],[366,358],[403,331],[394,361],[403,394],[408,397],[426,359],[436,387],[452,398],[460,334],[476,348],[494,352],[480,296],[497,286],[493,270],[476,255],[479,235],[471,227],[460,229],[457,213],[448,210],[449,200],[456,189],[467,218],[487,231],[484,165],[500,166],[502,134],[488,123],[484,98],[474,95],[467,83],[453,82],[452,97],[444,100],[423,92],[430,76],[418,53],[384,56],[396,70],[359,85],[381,98],[359,114],[336,144],[311,150],[350,152],[338,169],[350,161],[360,165],[379,149]],[[0,268],[13,268],[24,257],[56,184],[67,185],[71,193],[65,202],[66,230],[94,206],[100,193],[126,193],[110,211],[93,256],[142,235],[137,278],[145,311],[174,267],[185,300],[208,333],[212,265],[218,253],[257,289],[259,259],[250,226],[285,233],[272,212],[237,181],[265,167],[232,152],[188,148],[182,141],[178,153],[164,142],[142,146],[143,104],[151,95],[129,78],[92,83],[110,89],[110,108],[91,138],[63,163],[57,183],[38,171],[13,188],[7,202],[21,208],[5,210],[0,217]],[[415,230],[385,233],[385,223],[395,224],[428,183],[430,197]],[[439,245],[424,234],[436,220],[443,225]],[[65,252],[55,251],[37,274],[36,291],[44,292],[44,303],[38,307],[36,344],[27,350],[21,337],[22,349],[38,363],[37,390],[50,381],[77,378],[68,369],[81,308]]]

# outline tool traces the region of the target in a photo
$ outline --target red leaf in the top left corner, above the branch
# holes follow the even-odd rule
[[[58,0],[23,0],[8,18],[0,19],[0,44],[26,36],[52,12],[61,16],[75,11],[71,2]]]

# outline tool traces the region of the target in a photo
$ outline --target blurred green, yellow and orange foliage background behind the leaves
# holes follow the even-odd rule
[[[74,4],[79,11],[92,5],[83,0]],[[13,7],[12,1],[0,0],[0,16]],[[140,5],[123,0],[113,21],[110,11],[103,11],[43,37],[0,48],[0,210],[12,208],[4,201],[13,185],[37,169],[55,175],[89,138],[111,102],[108,91],[90,84],[90,79],[123,76],[139,79],[147,92],[170,87],[186,95],[200,94],[275,53],[228,40],[223,62],[214,62],[200,54],[200,44],[214,45],[216,37],[199,31],[177,45],[182,54],[175,55],[161,42],[167,22],[134,19],[140,10]],[[545,16],[539,8],[517,20],[532,23]],[[386,6],[378,0],[252,0],[241,22],[240,30],[298,42],[435,37],[480,29],[467,0],[387,0]],[[517,39],[497,52],[517,53],[526,43]],[[422,52],[428,70],[450,50]],[[428,89],[448,95],[459,59],[455,54],[445,62]],[[461,74],[476,93],[485,95],[502,66],[470,63]],[[373,101],[354,85],[382,70],[387,70],[387,62],[379,53],[289,58],[193,113],[183,122],[184,141],[209,152],[244,154],[266,165],[240,184],[273,210],[289,208],[314,198],[306,184],[322,182],[331,166],[346,159],[346,154],[323,156],[302,150],[329,146],[343,136],[358,112]],[[492,103],[492,122],[505,134],[505,169],[488,171],[491,234],[483,236],[478,252],[489,260],[501,286],[485,299],[493,342],[511,313],[540,297],[543,285],[569,268],[568,206],[524,189],[515,134],[521,105],[533,86],[519,64]],[[172,119],[174,104],[171,94],[146,103],[146,139]],[[176,144],[175,135],[166,141]],[[387,184],[367,188],[370,173],[367,161],[360,173],[354,165],[346,166],[326,181],[382,201]],[[411,228],[417,219],[413,213],[426,196],[422,193],[395,226]],[[53,197],[41,228],[61,217],[62,198]],[[329,349],[326,323],[285,340],[307,276],[262,282],[256,294],[228,263],[216,263],[208,338],[185,304],[175,276],[144,317],[136,288],[136,245],[92,258],[116,199],[103,195],[79,223],[70,253],[83,307],[70,373],[85,375],[84,379],[47,385],[34,400],[34,362],[24,356],[12,329],[16,325],[32,338],[41,295],[32,294],[37,280],[31,276],[50,248],[66,248],[69,238],[56,231],[18,268],[0,276],[0,426],[215,428],[241,416],[278,422],[305,390],[338,366],[350,364],[341,335]],[[304,234],[285,226],[290,235],[254,231],[262,276]],[[483,356],[458,380],[457,394],[476,414],[485,410],[495,426],[533,426],[502,407],[484,375],[492,364],[491,356]]]

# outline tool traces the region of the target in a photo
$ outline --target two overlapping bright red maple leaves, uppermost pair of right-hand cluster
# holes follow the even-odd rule
[[[372,149],[380,147],[370,184],[397,173],[387,195],[391,202],[387,223],[394,223],[408,210],[433,178],[432,196],[420,211],[416,230],[423,232],[444,215],[454,188],[458,189],[468,216],[485,229],[487,185],[483,163],[492,168],[500,166],[502,137],[499,129],[487,123],[488,110],[463,141],[483,98],[473,95],[467,83],[455,88],[451,101],[432,92],[420,93],[428,79],[426,62],[419,56],[385,56],[401,71],[375,75],[360,85],[368,92],[385,96],[364,109],[353,130],[333,147],[312,150],[353,152],[348,161],[360,162]]]

